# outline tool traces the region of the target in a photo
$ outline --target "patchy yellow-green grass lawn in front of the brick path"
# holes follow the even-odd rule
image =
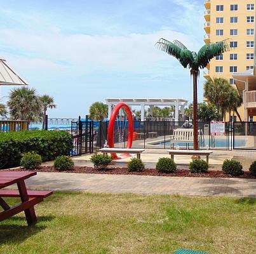
[[[0,223],[0,253],[256,251],[256,199],[55,192],[36,212]]]

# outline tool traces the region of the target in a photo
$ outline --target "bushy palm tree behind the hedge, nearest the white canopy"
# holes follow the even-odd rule
[[[14,120],[38,121],[42,116],[41,100],[34,88],[14,88],[7,105]]]

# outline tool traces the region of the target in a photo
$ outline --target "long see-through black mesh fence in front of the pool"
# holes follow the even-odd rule
[[[95,122],[95,140],[98,148],[104,147],[107,142],[108,121]],[[169,149],[170,137],[173,130],[178,128],[192,128],[187,121],[134,121],[133,122],[133,148]],[[119,131],[123,131],[123,140],[120,142]],[[210,122],[199,122],[199,148],[231,150],[232,149],[232,123],[225,123],[224,136],[212,136]],[[128,122],[116,122],[114,129],[114,142],[116,147],[125,147],[128,138]],[[177,142],[177,149],[193,149],[192,142],[187,144]]]

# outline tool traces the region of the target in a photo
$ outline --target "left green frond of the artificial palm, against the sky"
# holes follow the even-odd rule
[[[180,43],[178,45],[178,41],[175,41],[175,43],[172,43],[166,39],[159,39],[159,41],[156,43],[158,46],[159,50],[166,52],[168,55],[171,55],[172,57],[175,57],[177,60],[179,60],[180,64],[184,68],[191,68],[193,62],[194,62],[194,57],[192,55],[192,52],[187,50],[185,46]]]

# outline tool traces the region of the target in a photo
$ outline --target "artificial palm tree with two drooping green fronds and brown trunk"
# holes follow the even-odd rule
[[[180,41],[167,41],[159,39],[158,48],[165,51],[168,55],[177,58],[184,68],[190,69],[193,77],[193,125],[194,125],[194,150],[198,150],[198,77],[199,69],[204,69],[213,57],[229,50],[227,41],[218,43],[208,43],[200,48],[198,53],[188,50]]]

